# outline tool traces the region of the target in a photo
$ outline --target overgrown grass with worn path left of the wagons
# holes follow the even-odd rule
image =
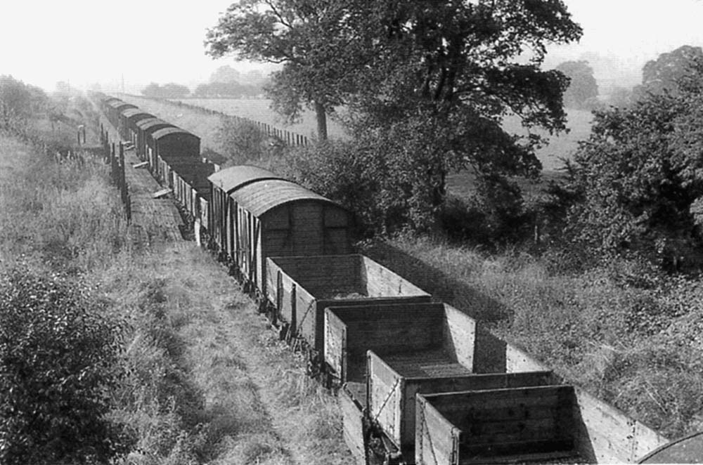
[[[128,322],[110,413],[124,463],[348,463],[335,399],[207,252],[124,241],[107,169],[0,138],[0,267],[69,275]]]

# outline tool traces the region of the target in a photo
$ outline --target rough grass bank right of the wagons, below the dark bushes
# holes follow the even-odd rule
[[[366,253],[660,433],[703,429],[703,284],[401,237]]]

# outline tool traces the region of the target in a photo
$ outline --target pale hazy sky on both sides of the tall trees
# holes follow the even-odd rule
[[[193,85],[231,59],[205,56],[205,30],[228,0],[0,0],[0,74],[55,89],[56,81],[129,86]],[[703,46],[703,0],[566,0],[583,27],[580,44],[551,49],[547,65],[597,53],[600,79],[638,79],[646,60],[683,44]],[[587,55],[593,58],[593,55]],[[269,68],[270,69],[270,68]],[[105,87],[103,87],[105,88]]]

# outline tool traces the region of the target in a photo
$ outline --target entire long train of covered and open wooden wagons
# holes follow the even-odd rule
[[[354,254],[354,214],[340,204],[257,166],[219,170],[193,133],[119,98],[93,101],[311,372],[340,387],[359,463],[632,462],[666,443]]]

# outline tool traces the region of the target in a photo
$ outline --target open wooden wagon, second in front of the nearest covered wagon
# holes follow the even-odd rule
[[[333,302],[325,309],[325,362],[342,383],[365,381],[367,351],[423,364],[424,376],[473,372],[476,321],[460,310],[396,299],[355,303],[338,307]]]

